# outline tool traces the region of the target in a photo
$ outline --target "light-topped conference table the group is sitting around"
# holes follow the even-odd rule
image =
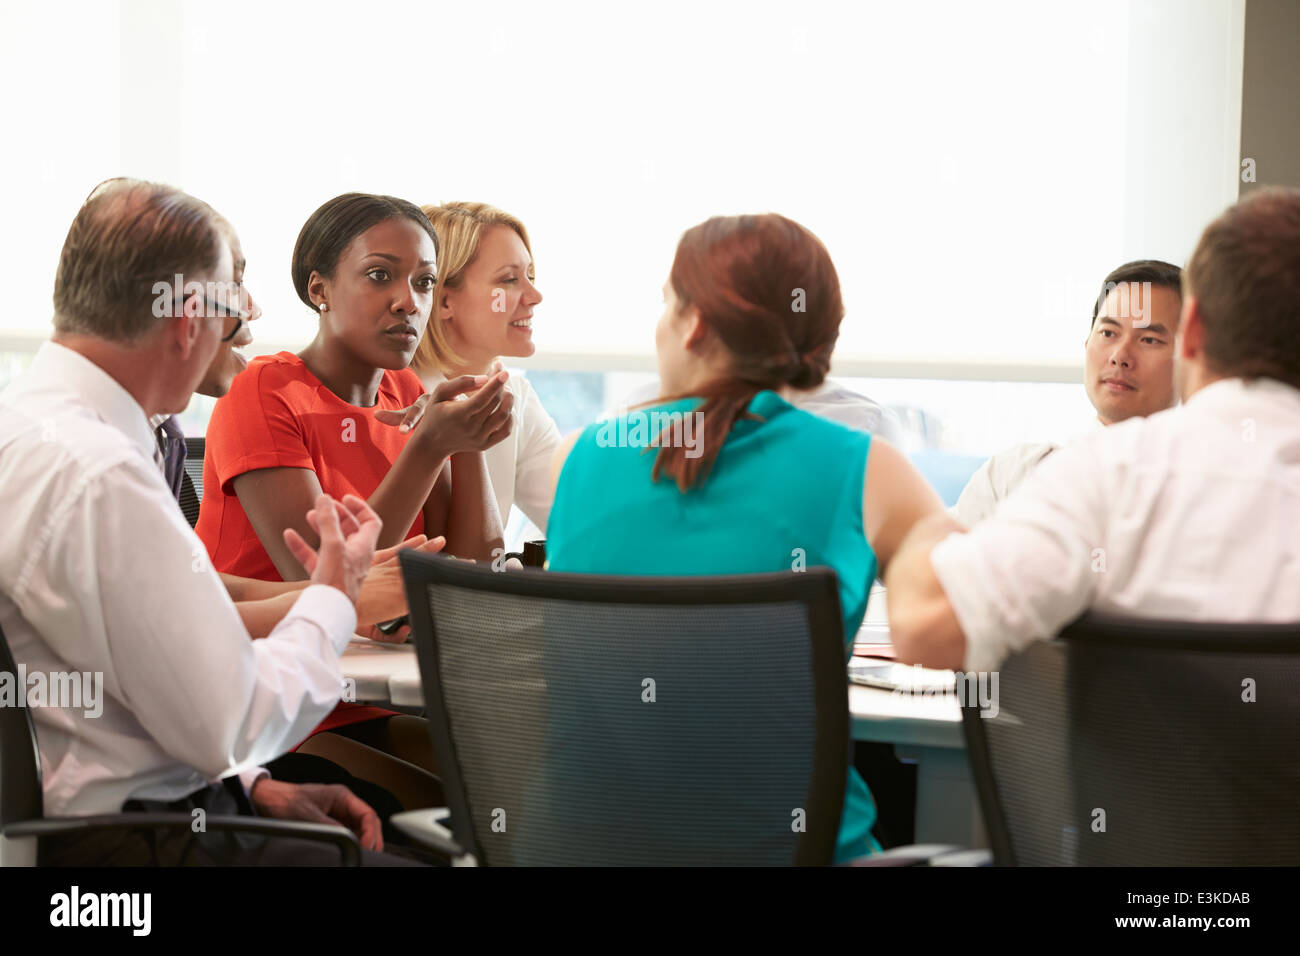
[[[888,627],[868,619],[857,644],[859,650],[888,644]],[[413,645],[358,639],[341,663],[346,697],[424,708]],[[956,695],[898,693],[850,683],[849,713],[854,740],[893,744],[901,761],[916,765],[916,843],[988,847]]]

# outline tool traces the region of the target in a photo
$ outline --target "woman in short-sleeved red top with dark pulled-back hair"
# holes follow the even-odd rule
[[[436,258],[433,226],[402,199],[350,193],[307,220],[292,277],[320,330],[298,355],[250,363],[208,424],[195,531],[218,571],[304,579],[285,532],[315,546],[307,512],[321,492],[365,498],[384,522],[378,548],[421,533],[464,558],[502,546],[482,451],[510,433],[507,375],[445,382],[413,428],[399,425],[422,393],[407,365],[433,306]],[[341,704],[317,734],[326,730],[433,770],[417,718]],[[373,769],[337,748],[322,756],[358,777]]]

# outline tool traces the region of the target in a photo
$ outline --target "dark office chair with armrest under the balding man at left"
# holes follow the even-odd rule
[[[17,674],[9,644],[0,630],[0,672]],[[42,836],[91,835],[104,830],[121,831],[124,838],[140,830],[190,830],[188,813],[107,813],[92,817],[44,817],[40,783],[40,750],[36,724],[27,708],[0,708],[0,864],[32,866],[38,862]],[[361,862],[356,836],[342,827],[259,817],[209,816],[207,829],[237,831],[251,836],[285,836],[332,843],[341,864]]]

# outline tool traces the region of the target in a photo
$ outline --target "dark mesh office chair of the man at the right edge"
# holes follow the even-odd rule
[[[1300,864],[1297,685],[1300,624],[1088,614],[1032,644],[962,701],[994,862]]]

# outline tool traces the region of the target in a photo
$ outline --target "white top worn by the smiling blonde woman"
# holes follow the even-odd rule
[[[420,380],[426,392],[433,392],[447,378],[433,372]],[[515,395],[515,405],[510,411],[511,429],[510,436],[484,453],[488,479],[497,496],[503,527],[510,522],[511,505],[517,505],[545,535],[555,497],[551,488],[551,458],[560,445],[560,429],[542,407],[542,399],[528,384],[528,378],[512,372],[506,388]]]

